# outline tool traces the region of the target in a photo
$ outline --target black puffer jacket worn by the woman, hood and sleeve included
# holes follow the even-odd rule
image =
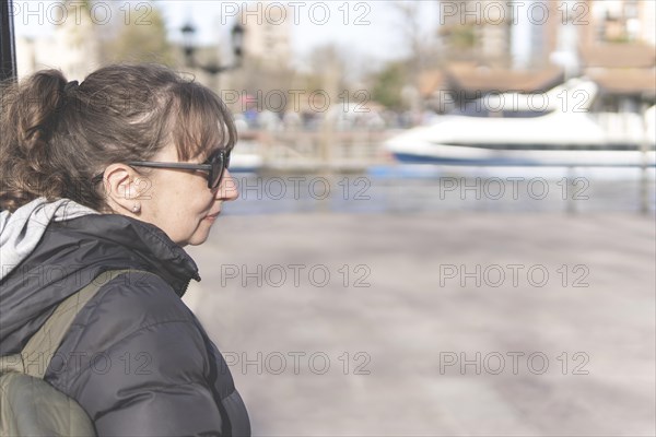
[[[0,283],[0,355],[19,352],[56,305],[106,270],[45,379],[74,398],[101,436],[249,435],[223,357],[180,297],[194,260],[162,231],[122,215],[52,222]]]

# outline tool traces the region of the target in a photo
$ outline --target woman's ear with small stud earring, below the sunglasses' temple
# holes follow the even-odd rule
[[[107,204],[118,214],[137,215],[141,212],[143,177],[125,164],[112,164],[103,177]]]

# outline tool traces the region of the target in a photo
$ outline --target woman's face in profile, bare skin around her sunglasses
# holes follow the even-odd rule
[[[150,161],[178,162],[175,146],[168,145]],[[201,157],[189,161],[200,164]],[[207,172],[153,168],[139,184],[141,211],[134,216],[160,227],[180,246],[200,245],[221,212],[223,202],[238,197],[235,180],[227,169],[219,188],[208,188]]]

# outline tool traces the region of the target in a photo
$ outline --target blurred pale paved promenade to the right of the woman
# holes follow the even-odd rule
[[[255,435],[653,436],[655,227],[226,214],[185,299]]]

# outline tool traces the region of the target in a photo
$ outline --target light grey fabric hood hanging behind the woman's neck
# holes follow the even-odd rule
[[[50,222],[62,222],[87,214],[97,214],[70,199],[48,202],[38,198],[19,208],[13,214],[0,213],[0,281],[32,253]]]

